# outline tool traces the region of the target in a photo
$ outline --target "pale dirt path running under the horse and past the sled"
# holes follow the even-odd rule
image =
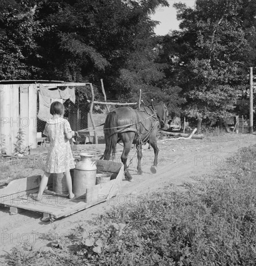
[[[122,195],[115,201],[109,201],[80,211],[69,217],[56,220],[55,222],[41,222],[41,214],[25,211],[10,216],[9,208],[0,207],[1,228],[1,261],[4,261],[5,252],[10,251],[16,244],[30,242],[34,247],[47,249],[48,241],[39,239],[41,234],[52,233],[56,237],[63,238],[68,235],[78,224],[91,220],[94,215],[103,214],[114,204],[125,204],[125,196],[136,200],[139,196],[152,192],[158,188],[173,184],[174,187],[182,188],[184,182],[193,181],[193,176],[211,174],[227,163],[239,163],[228,160],[238,148],[256,144],[256,135],[226,134],[221,137],[205,138],[203,140],[171,140],[158,142],[159,165],[158,172],[153,175],[150,172],[153,150],[143,148],[144,165],[143,175],[136,175],[136,158],[130,166],[130,173],[134,182],[123,181]],[[132,149],[130,156],[135,154]],[[120,156],[120,152],[118,152]]]

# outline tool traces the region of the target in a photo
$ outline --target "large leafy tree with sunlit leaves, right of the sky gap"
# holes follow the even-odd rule
[[[196,0],[196,8],[174,4],[181,31],[171,32],[169,78],[182,88],[187,103],[185,114],[199,122],[225,118],[233,112],[246,88],[248,51],[242,16],[250,0]],[[200,124],[200,123],[199,123]]]

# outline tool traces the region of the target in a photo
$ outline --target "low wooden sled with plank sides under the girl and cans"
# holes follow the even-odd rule
[[[85,194],[75,199],[55,193],[48,188],[52,185],[49,178],[48,187],[40,202],[31,195],[38,192],[41,176],[25,177],[11,181],[8,186],[0,189],[0,204],[10,207],[11,214],[24,210],[43,213],[45,221],[66,217],[80,210],[102,203],[121,193],[121,183],[124,179],[124,167],[111,161],[96,161],[97,170],[110,172],[111,180],[86,189]]]

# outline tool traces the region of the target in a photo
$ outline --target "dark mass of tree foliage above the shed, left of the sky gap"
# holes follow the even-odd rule
[[[149,17],[159,5],[168,2],[4,0],[0,78],[94,84],[103,78],[108,98],[161,90],[158,22]]]

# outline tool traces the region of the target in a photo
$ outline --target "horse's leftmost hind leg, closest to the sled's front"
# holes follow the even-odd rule
[[[133,177],[130,175],[128,168],[127,168],[127,158],[128,158],[128,154],[130,152],[130,149],[132,148],[135,133],[134,132],[120,133],[119,137],[123,143],[123,151],[122,151],[122,155],[121,155],[121,161],[124,165],[125,179],[132,182]]]

